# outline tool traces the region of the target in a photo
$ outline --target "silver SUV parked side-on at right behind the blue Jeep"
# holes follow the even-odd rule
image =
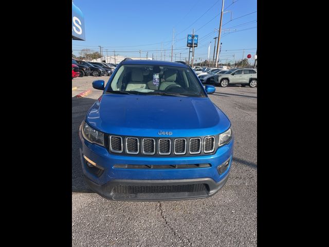
[[[213,83],[222,87],[233,84],[255,87],[257,86],[257,70],[252,68],[230,69],[224,74],[214,75]]]

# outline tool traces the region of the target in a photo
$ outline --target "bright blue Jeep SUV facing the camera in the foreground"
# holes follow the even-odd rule
[[[190,66],[122,61],[81,123],[85,181],[111,200],[214,195],[228,180],[233,132]]]

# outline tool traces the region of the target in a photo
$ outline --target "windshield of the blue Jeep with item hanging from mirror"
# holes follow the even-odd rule
[[[108,93],[206,97],[190,68],[157,65],[121,65]]]

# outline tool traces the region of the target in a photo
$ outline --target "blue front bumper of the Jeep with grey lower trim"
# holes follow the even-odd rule
[[[192,157],[120,156],[106,148],[90,144],[79,132],[82,141],[80,158],[85,181],[100,196],[120,201],[168,201],[213,196],[228,180],[233,154],[232,141],[212,154]],[[87,166],[87,157],[97,167]],[[227,169],[218,173],[217,167],[227,160]],[[114,168],[118,164],[176,165],[210,164],[211,167],[188,169],[129,169]],[[94,170],[98,170],[95,172]],[[202,189],[203,188],[203,189]]]

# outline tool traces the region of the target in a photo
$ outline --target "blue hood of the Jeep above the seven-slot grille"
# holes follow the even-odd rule
[[[86,119],[93,128],[109,134],[172,137],[215,135],[226,131],[230,121],[209,98],[156,95],[104,94]]]

